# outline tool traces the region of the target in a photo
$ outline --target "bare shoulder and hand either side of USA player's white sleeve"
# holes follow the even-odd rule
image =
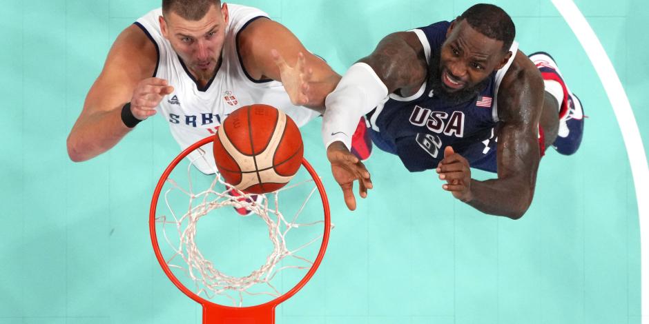
[[[427,77],[427,62],[423,46],[414,32],[396,32],[378,43],[374,52],[359,62],[367,63],[387,86],[388,92],[409,96],[419,90]],[[369,172],[345,144],[333,142],[327,148],[331,172],[336,179],[349,210],[356,209],[353,181],[359,182],[359,194],[367,196],[372,188]]]

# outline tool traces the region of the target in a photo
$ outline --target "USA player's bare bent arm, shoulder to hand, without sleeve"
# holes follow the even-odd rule
[[[498,93],[498,178],[471,179],[469,163],[452,148],[437,172],[443,188],[485,214],[519,219],[532,203],[539,168],[538,126],[543,108],[543,79],[539,70],[518,52]]]

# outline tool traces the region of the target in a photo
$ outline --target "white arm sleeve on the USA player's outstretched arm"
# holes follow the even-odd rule
[[[366,63],[351,65],[336,89],[324,100],[324,147],[342,141],[351,150],[351,136],[356,131],[358,120],[376,108],[387,95],[387,87],[371,66]]]

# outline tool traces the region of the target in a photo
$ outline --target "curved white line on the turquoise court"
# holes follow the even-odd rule
[[[597,39],[588,21],[572,0],[551,0],[565,22],[577,36],[581,46],[588,54],[601,83],[606,90],[615,118],[622,131],[622,138],[629,156],[635,195],[638,201],[638,218],[640,221],[640,266],[641,266],[641,315],[642,324],[649,324],[649,230],[647,217],[649,217],[649,167],[647,156],[642,145],[642,138],[638,124],[633,115],[622,83],[613,68],[606,51]]]

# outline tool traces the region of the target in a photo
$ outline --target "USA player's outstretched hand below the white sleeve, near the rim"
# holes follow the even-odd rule
[[[367,190],[372,188],[372,181],[369,179],[369,172],[365,165],[349,150],[345,144],[336,141],[327,148],[327,159],[331,162],[333,179],[340,185],[342,195],[349,210],[356,209],[356,197],[353,196],[353,181],[358,180],[358,194],[362,198],[367,197]]]

